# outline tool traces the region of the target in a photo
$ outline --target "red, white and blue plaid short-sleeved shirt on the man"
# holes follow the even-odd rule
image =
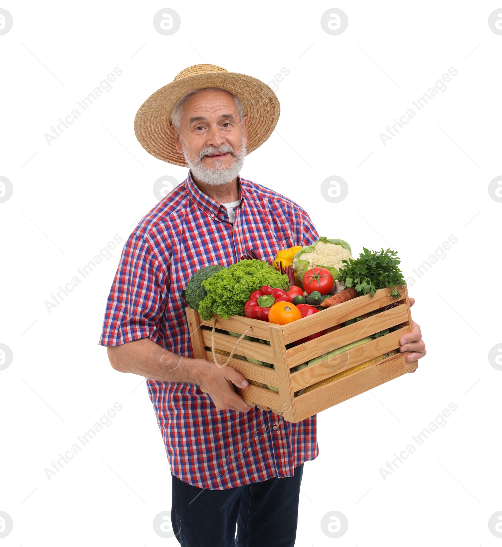
[[[318,239],[293,201],[240,178],[234,223],[203,194],[191,173],[141,220],[127,240],[108,296],[100,344],[149,338],[193,357],[180,293],[210,264],[230,266],[247,249],[271,260],[284,248]],[[271,411],[218,410],[191,383],[147,379],[173,475],[210,490],[287,477],[319,453],[316,416],[290,423]]]

